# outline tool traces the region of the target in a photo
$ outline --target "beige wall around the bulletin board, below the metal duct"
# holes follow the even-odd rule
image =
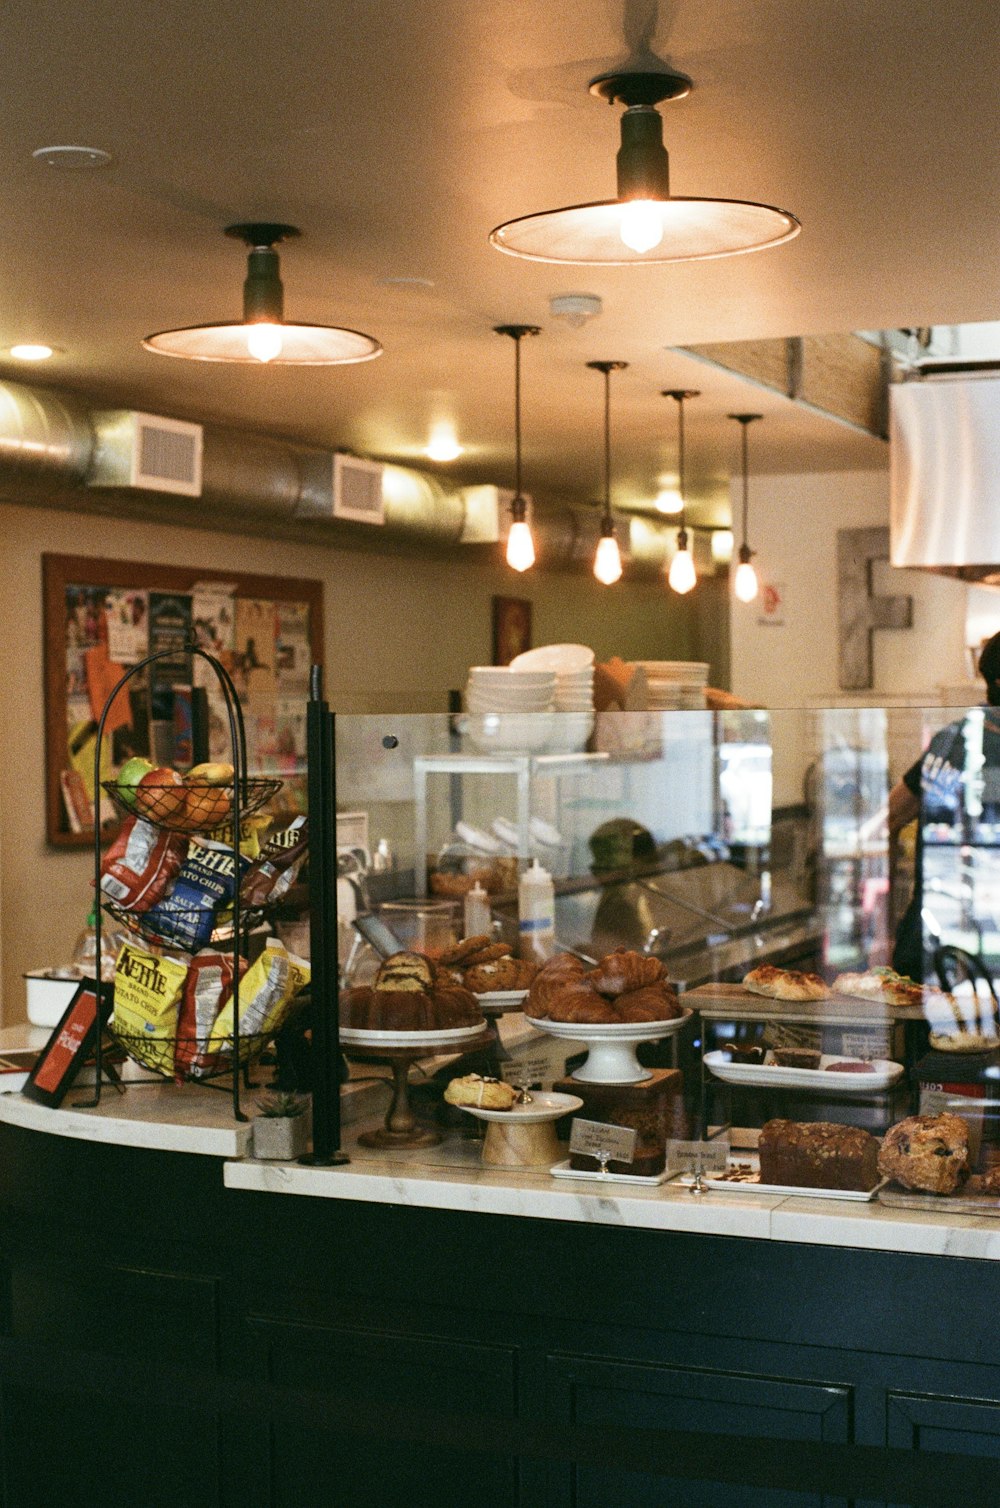
[[[501,564],[406,559],[237,538],[39,508],[0,508],[0,1019],[24,1015],[26,968],[65,962],[86,920],[90,860],[45,844],[42,552],[317,576],[326,587],[327,695],[345,712],[445,710],[490,659],[490,597],[531,597],[534,641],[584,639],[599,657],[697,656],[689,603],[656,582],[612,591],[590,576],[513,578]]]

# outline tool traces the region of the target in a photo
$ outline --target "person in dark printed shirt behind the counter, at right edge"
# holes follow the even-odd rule
[[[935,906],[925,905],[929,884],[941,897],[937,909],[974,917],[979,897],[968,854],[1000,837],[1000,633],[983,645],[979,674],[986,683],[985,706],[935,733],[888,793],[891,837],[919,819],[914,893],[893,950],[893,968],[917,980],[932,977],[940,939]]]

